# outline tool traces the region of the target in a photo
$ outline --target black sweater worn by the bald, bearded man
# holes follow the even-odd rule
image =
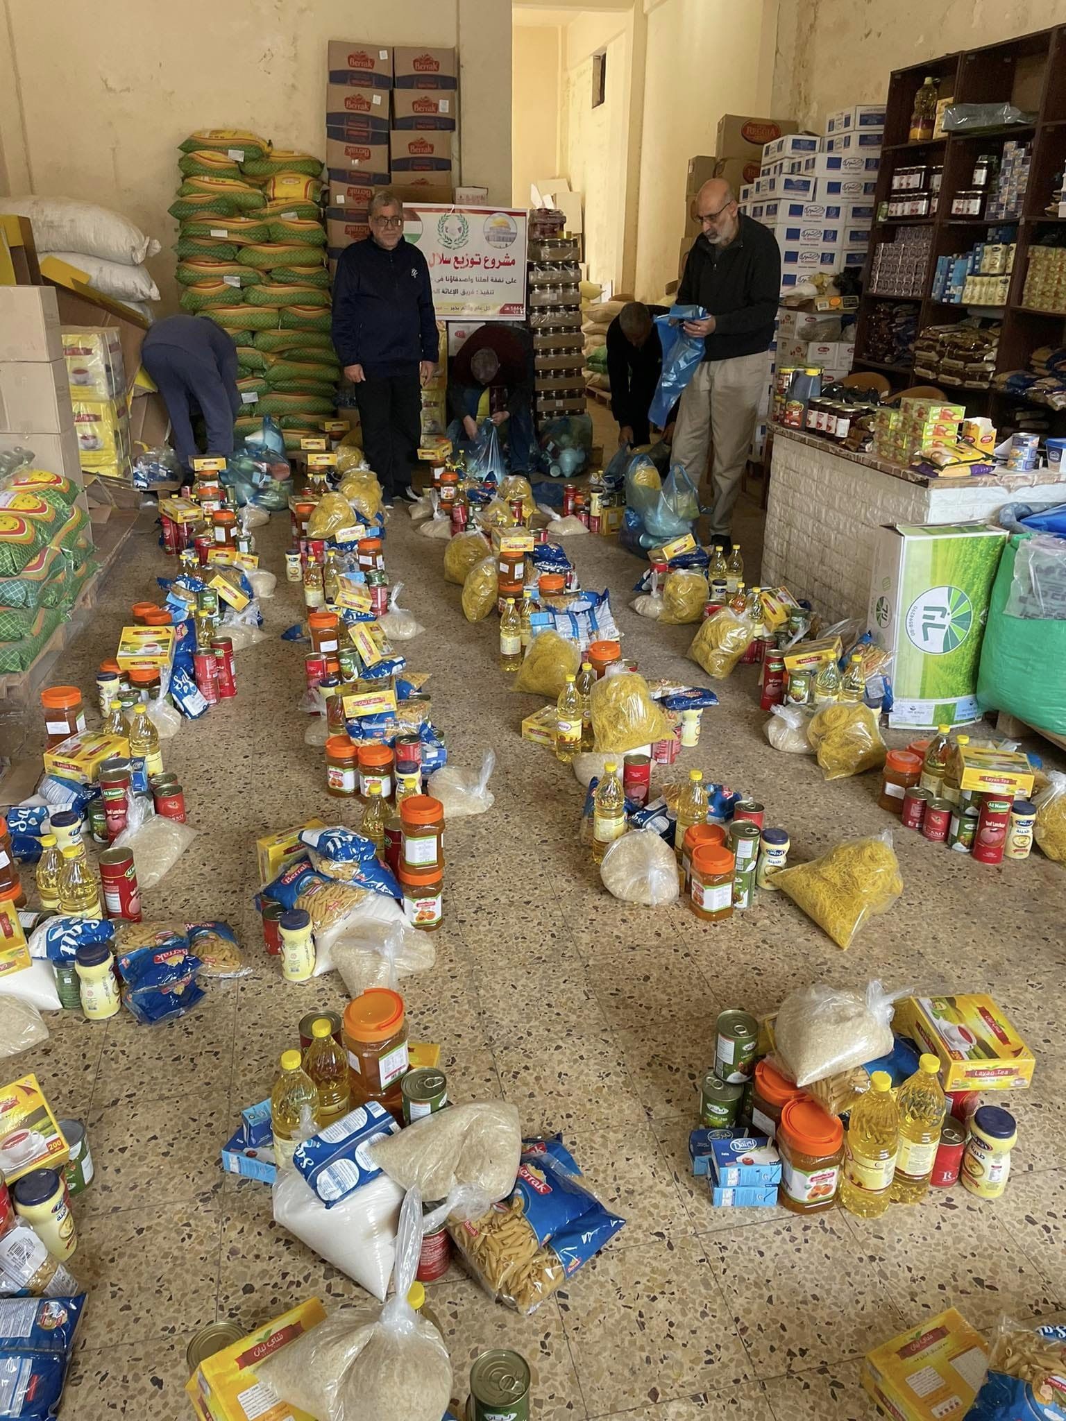
[[[728,247],[712,247],[701,233],[685,261],[678,306],[702,306],[715,318],[704,360],[758,355],[773,340],[780,301],[780,253],[773,233],[739,216]]]

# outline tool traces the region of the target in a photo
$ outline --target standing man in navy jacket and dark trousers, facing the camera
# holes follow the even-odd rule
[[[370,237],[341,253],[333,286],[333,344],[355,385],[362,448],[385,502],[411,499],[421,432],[421,385],[438,358],[429,267],[404,240],[404,205],[374,195]]]

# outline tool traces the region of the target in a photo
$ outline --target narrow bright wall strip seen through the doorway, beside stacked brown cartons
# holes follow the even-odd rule
[[[529,185],[559,176],[560,26],[522,24],[512,36],[510,172],[512,202],[529,206]]]

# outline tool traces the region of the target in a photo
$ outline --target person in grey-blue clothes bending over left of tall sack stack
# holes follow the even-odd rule
[[[240,414],[237,348],[206,315],[168,315],[144,338],[141,361],[163,396],[173,450],[192,469],[196,439],[192,414],[206,425],[205,453],[233,453],[233,421]]]

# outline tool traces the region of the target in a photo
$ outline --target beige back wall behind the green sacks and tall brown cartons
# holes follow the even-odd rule
[[[61,31],[54,6],[0,0],[7,190],[117,207],[169,247],[176,145],[192,129],[323,153],[331,38],[458,45],[462,180],[510,200],[506,0],[94,0],[63,6]],[[171,287],[169,250],[151,264]]]

